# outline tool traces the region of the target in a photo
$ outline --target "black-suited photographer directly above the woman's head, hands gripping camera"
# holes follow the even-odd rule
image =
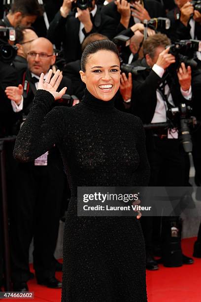
[[[108,38],[115,36],[113,19],[102,13],[102,6],[96,4],[95,0],[89,3],[90,7],[86,9],[77,7],[75,12],[71,10],[74,1],[64,0],[60,11],[50,24],[47,37],[57,48],[60,48],[62,43],[67,62],[81,58],[81,44],[90,34],[99,33]]]

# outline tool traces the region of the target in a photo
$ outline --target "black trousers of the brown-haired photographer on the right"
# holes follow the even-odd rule
[[[151,168],[149,186],[185,186],[185,152],[177,139],[160,139],[148,133],[147,155]],[[152,252],[153,237],[159,237],[161,217],[141,217],[146,251]],[[166,220],[166,218],[165,218]],[[154,228],[154,224],[158,227]],[[153,230],[158,234],[153,233]]]

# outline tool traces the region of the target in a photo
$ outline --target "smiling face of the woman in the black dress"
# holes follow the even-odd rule
[[[117,55],[112,51],[99,50],[88,56],[85,69],[85,72],[80,71],[80,76],[88,91],[102,101],[111,100],[120,85]]]

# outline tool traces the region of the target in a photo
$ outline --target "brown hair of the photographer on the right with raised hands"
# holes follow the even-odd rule
[[[150,36],[143,42],[144,56],[148,54],[153,59],[157,47],[167,47],[170,44],[171,41],[165,34],[158,33],[154,36]]]

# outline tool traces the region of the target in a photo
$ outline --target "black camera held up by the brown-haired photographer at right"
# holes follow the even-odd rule
[[[200,40],[180,40],[170,45],[169,53],[175,56],[178,64],[181,62],[192,68],[197,67],[197,62],[193,60],[194,52],[201,51],[201,41]]]

